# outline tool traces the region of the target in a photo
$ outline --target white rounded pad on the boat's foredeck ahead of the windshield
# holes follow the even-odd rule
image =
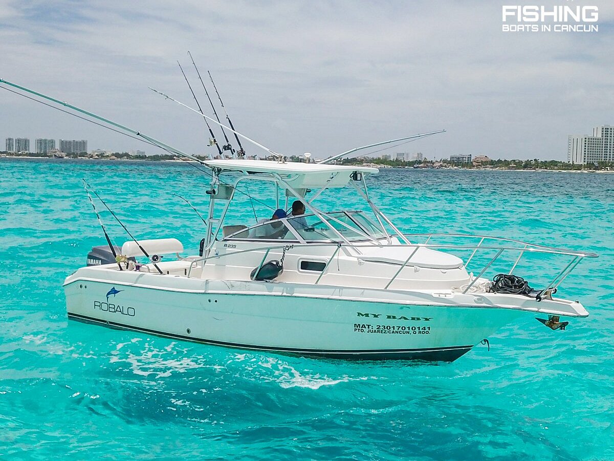
[[[408,248],[386,248],[386,246],[374,246],[373,248],[360,248],[363,254],[356,258],[361,261],[384,262],[402,266],[407,258],[413,253],[415,247]],[[407,266],[424,267],[426,269],[459,269],[463,267],[461,258],[454,254],[444,253],[443,251],[430,250],[430,248],[418,248],[416,254],[407,263]]]

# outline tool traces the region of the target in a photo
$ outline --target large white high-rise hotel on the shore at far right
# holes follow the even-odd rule
[[[569,135],[567,162],[581,165],[614,162],[614,127],[611,125],[594,127],[593,136]]]

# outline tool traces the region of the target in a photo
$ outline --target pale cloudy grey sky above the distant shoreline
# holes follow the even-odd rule
[[[597,6],[599,30],[503,32],[507,4]],[[212,115],[188,50],[220,117],[206,71],[235,128],[288,156],[445,129],[378,155],[564,160],[567,135],[614,125],[612,0],[0,0],[1,79],[206,154],[202,117],[148,89],[196,107],[179,60]],[[6,137],[163,153],[0,89]]]

